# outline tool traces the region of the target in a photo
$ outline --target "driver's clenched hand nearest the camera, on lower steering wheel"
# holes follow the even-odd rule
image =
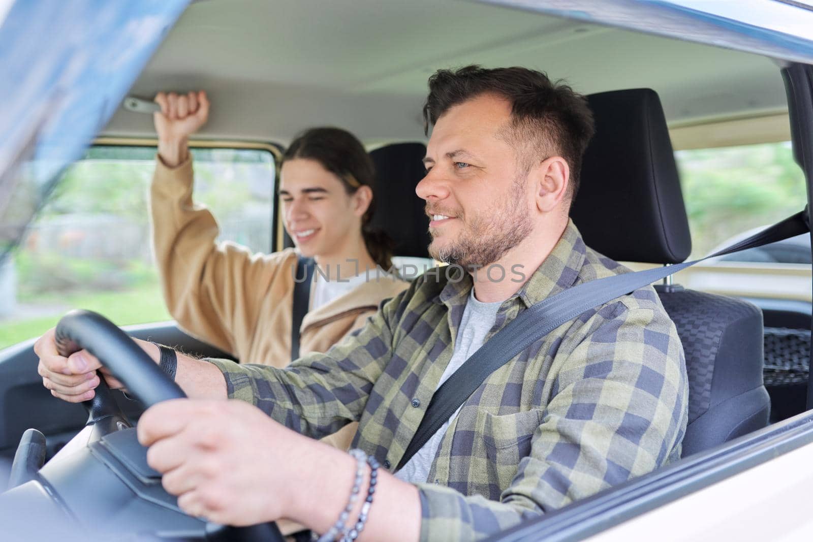
[[[138,422],[138,440],[180,509],[235,526],[286,517],[318,453],[346,456],[236,400],[154,405]]]

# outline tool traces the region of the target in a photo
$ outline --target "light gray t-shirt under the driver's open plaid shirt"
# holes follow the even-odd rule
[[[457,340],[454,341],[454,353],[452,353],[449,365],[446,366],[446,371],[443,371],[441,381],[437,383],[438,388],[454,374],[454,371],[457,371],[463,365],[463,362],[472,353],[475,353],[483,345],[485,336],[488,335],[494,321],[497,319],[497,311],[500,305],[502,305],[502,301],[494,301],[493,303],[477,301],[474,297],[474,288],[472,288],[472,293],[466,302],[466,310],[463,310],[463,319],[460,320]],[[455,410],[454,414],[446,420],[446,423],[406,462],[406,465],[395,473],[396,478],[410,483],[428,481],[429,469],[432,467],[437,449],[441,446],[441,440],[446,435],[449,423],[459,414],[461,408],[463,408],[463,405],[460,405],[458,410]]]

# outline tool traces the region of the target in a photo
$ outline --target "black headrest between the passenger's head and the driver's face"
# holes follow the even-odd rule
[[[429,219],[415,186],[424,178],[423,143],[393,143],[370,153],[376,164],[376,213],[372,226],[395,240],[393,254],[428,258]]]

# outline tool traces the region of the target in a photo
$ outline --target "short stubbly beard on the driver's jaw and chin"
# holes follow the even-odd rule
[[[526,177],[527,178],[527,177]],[[524,194],[525,178],[515,179],[507,197],[496,208],[458,219],[463,231],[457,240],[441,247],[429,245],[436,260],[462,267],[486,267],[524,241],[533,230]],[[430,229],[431,233],[431,229]]]

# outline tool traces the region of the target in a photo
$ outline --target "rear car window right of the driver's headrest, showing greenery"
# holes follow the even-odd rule
[[[701,258],[806,204],[802,170],[790,142],[675,153],[692,232],[692,258]],[[804,237],[804,238],[802,238]],[[730,254],[737,262],[811,262],[809,236]]]

